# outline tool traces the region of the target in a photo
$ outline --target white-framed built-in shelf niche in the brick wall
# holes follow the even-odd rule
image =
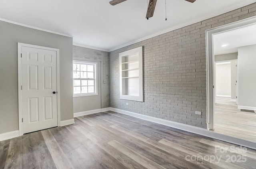
[[[120,99],[143,102],[142,47],[119,53]]]

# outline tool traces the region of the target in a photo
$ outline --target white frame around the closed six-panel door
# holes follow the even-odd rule
[[[22,47],[33,47],[33,48],[38,48],[38,49],[45,49],[45,50],[51,50],[51,51],[56,51],[57,53],[57,65],[56,65],[56,70],[57,70],[57,119],[58,119],[58,126],[60,126],[60,63],[59,63],[59,49],[51,48],[51,47],[44,47],[44,46],[38,46],[38,45],[31,45],[31,44],[26,44],[26,43],[20,43],[18,42],[18,122],[19,122],[19,135],[23,135],[23,112],[22,112]]]

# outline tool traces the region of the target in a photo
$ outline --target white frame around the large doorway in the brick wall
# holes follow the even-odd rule
[[[213,35],[218,33],[223,33],[226,31],[243,28],[246,26],[256,24],[256,16],[246,18],[237,22],[226,24],[224,26],[219,26],[217,28],[212,28],[206,30],[206,71],[207,71],[207,88],[206,88],[206,98],[207,98],[207,129],[214,130],[214,102],[215,102],[215,91],[214,91],[214,48],[213,48]]]

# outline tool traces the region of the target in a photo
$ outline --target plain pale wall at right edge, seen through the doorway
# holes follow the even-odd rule
[[[255,63],[256,45],[238,48],[238,108],[256,110]]]

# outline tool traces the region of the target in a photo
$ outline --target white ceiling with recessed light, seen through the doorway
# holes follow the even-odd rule
[[[238,52],[238,47],[256,44],[256,24],[213,35],[214,54]],[[224,45],[224,46],[222,46]]]

